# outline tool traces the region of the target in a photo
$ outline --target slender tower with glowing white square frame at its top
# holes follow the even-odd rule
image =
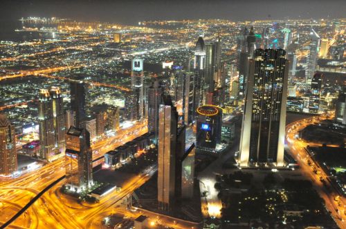
[[[144,73],[143,59],[132,59],[131,89],[136,97],[138,119],[144,117]]]

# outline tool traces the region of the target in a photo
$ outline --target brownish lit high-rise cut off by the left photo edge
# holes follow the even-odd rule
[[[11,175],[17,170],[15,128],[6,115],[0,114],[0,175]]]

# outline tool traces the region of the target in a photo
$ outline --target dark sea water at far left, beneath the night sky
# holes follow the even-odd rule
[[[35,39],[52,39],[53,34],[46,32],[16,32],[16,29],[21,30],[23,27],[26,28],[56,28],[56,25],[52,24],[39,24],[39,23],[26,23],[24,21],[14,20],[6,21],[0,20],[0,41],[32,41]],[[57,37],[57,34],[55,34]]]

